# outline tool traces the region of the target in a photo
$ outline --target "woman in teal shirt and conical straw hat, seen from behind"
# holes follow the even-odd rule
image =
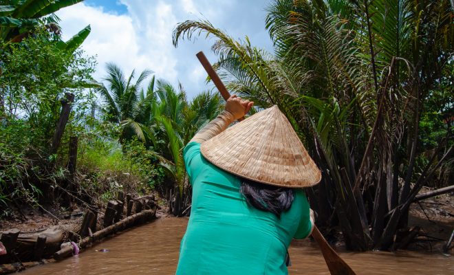
[[[288,274],[290,241],[312,232],[303,188],[320,170],[276,106],[228,128],[252,104],[231,96],[184,148],[193,200],[177,274]]]

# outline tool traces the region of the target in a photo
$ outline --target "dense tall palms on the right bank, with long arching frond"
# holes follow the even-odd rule
[[[390,249],[420,188],[453,182],[452,3],[275,0],[266,28],[274,54],[208,21],[173,41],[214,36],[228,89],[277,104],[321,168],[320,225],[347,248]]]

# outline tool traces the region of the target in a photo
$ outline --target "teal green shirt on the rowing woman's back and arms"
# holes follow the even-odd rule
[[[208,162],[199,143],[184,148],[184,163],[193,200],[177,274],[288,274],[290,241],[312,229],[303,190],[296,189],[292,207],[278,219],[248,206],[239,178]]]

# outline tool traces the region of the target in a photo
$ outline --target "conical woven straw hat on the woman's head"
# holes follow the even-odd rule
[[[203,142],[201,151],[215,166],[263,184],[301,188],[321,180],[320,170],[276,105]]]

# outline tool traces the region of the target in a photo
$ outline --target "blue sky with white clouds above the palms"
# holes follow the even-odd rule
[[[119,65],[127,76],[151,69],[156,78],[175,87],[182,83],[188,98],[207,89],[206,72],[195,57],[204,51],[211,63],[217,61],[210,47],[215,39],[204,35],[194,41],[172,44],[177,23],[207,19],[235,39],[248,36],[252,45],[272,52],[265,29],[266,8],[270,0],[86,0],[59,10],[63,39],[91,25],[83,43],[88,56],[96,56],[94,78],[106,76],[105,64]]]

